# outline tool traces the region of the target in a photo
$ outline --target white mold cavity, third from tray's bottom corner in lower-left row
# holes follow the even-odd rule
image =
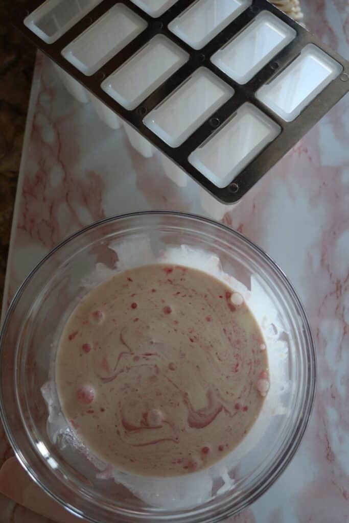
[[[157,35],[101,84],[126,109],[136,108],[189,60],[189,54],[163,35]]]

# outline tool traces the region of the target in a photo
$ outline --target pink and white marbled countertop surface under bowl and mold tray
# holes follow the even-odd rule
[[[347,0],[302,4],[306,24],[346,58]],[[306,435],[284,474],[236,523],[349,521],[349,97],[224,214],[284,269],[311,322],[318,388]],[[157,153],[144,158],[123,129],[75,101],[38,54],[4,296],[55,244],[95,220],[144,209],[208,214],[198,186],[177,187]],[[0,428],[0,464],[12,455]],[[48,523],[0,496],[2,523]]]

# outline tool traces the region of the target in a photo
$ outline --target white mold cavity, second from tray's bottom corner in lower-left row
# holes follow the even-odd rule
[[[168,145],[178,147],[233,94],[232,87],[200,67],[143,122]]]

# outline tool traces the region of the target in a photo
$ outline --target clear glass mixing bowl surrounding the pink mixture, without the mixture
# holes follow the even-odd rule
[[[266,339],[271,388],[227,458],[201,472],[144,480],[108,474],[78,446],[57,403],[53,366],[64,323],[89,289],[116,270],[154,261],[206,270],[244,295]],[[16,456],[44,491],[98,523],[213,522],[238,513],[294,456],[316,384],[305,311],[274,261],[224,225],[174,212],[103,220],[55,247],[15,295],[0,350],[1,417]]]

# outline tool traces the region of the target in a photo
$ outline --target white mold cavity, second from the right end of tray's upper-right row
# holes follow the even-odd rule
[[[211,62],[239,84],[246,84],[297,35],[267,11],[257,15],[251,24],[211,57]]]

